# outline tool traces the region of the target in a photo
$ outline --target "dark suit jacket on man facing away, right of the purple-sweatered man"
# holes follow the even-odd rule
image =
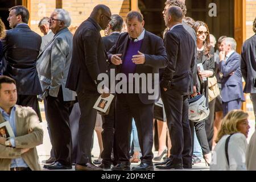
[[[168,31],[164,40],[169,63],[164,69],[161,86],[174,88],[180,94],[189,93],[189,81],[195,65],[195,42],[182,25]]]

